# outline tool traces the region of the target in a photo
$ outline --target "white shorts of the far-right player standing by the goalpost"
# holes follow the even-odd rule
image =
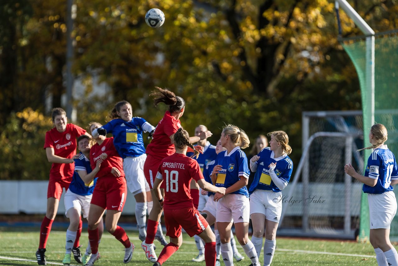
[[[368,194],[370,229],[390,229],[397,212],[397,202],[393,191],[382,194]]]

